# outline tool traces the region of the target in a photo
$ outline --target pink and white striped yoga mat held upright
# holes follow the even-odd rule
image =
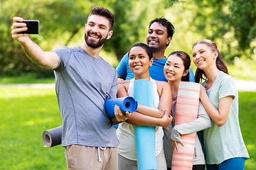
[[[174,125],[188,123],[198,118],[200,84],[181,81],[178,86],[178,96]],[[171,170],[188,170],[193,167],[193,154],[196,141],[196,133],[181,135],[184,147],[178,144],[178,152],[174,150]]]

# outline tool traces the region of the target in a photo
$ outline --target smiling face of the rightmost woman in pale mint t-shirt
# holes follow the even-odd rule
[[[198,44],[193,47],[193,63],[198,69],[206,69],[216,63],[218,52],[213,52],[206,44]]]

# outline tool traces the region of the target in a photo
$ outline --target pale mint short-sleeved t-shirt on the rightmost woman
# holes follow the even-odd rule
[[[206,82],[203,83],[205,86]],[[216,109],[220,98],[233,96],[227,122],[218,127],[213,120],[212,126],[203,132],[206,151],[206,164],[220,164],[234,157],[249,158],[249,154],[242,140],[238,119],[238,90],[233,77],[224,72],[219,72],[213,85],[206,91]]]

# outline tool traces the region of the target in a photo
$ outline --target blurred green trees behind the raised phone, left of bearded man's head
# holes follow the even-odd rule
[[[68,45],[74,35],[84,28],[85,21],[93,6],[105,6],[110,1],[82,0],[13,0],[0,1],[0,74],[18,75],[26,72],[50,74],[28,60],[21,46],[11,38],[12,18],[41,21],[40,34],[31,39],[43,50],[52,50],[55,45]]]

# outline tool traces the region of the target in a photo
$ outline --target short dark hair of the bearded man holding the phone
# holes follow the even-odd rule
[[[92,8],[92,10],[90,11],[89,16],[91,15],[103,16],[107,18],[107,20],[110,21],[110,30],[112,30],[112,27],[114,25],[114,16],[109,9],[104,8],[102,6],[95,7],[95,8]]]

